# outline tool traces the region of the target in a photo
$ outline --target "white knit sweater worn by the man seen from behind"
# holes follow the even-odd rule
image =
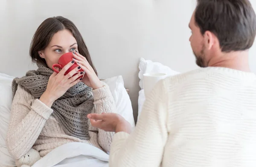
[[[256,167],[256,76],[207,67],[160,81],[110,167]]]

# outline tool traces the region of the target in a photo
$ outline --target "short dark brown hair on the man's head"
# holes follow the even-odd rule
[[[249,0],[198,0],[195,24],[201,34],[218,37],[222,52],[249,49],[256,35],[256,16]]]

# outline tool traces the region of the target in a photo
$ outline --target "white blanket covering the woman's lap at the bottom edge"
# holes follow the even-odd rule
[[[32,167],[108,167],[109,155],[85,143],[67,143],[55,148]]]

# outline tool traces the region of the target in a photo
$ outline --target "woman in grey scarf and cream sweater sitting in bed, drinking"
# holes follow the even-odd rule
[[[73,61],[57,74],[52,65],[61,55],[73,52]],[[107,85],[97,77],[84,40],[76,26],[64,17],[44,20],[30,46],[37,63],[12,84],[13,103],[6,137],[10,154],[19,159],[31,148],[41,157],[69,142],[84,142],[109,152],[113,133],[93,128],[87,114],[114,112],[115,104]],[[79,65],[64,75],[74,63]],[[72,75],[79,69],[83,72]]]

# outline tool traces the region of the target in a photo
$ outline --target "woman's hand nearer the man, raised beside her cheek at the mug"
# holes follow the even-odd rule
[[[80,55],[77,51],[73,52],[73,55],[74,55],[73,60],[77,63],[78,66],[81,66],[81,69],[83,69],[85,72],[82,82],[93,89],[101,88],[103,84],[99,80],[98,76],[96,75],[93,68],[90,66],[90,64],[86,60],[86,58]]]

